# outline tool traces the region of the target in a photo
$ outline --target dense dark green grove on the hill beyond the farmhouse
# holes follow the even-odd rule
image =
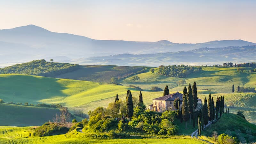
[[[185,65],[169,65],[169,66],[159,66],[158,74],[169,76],[169,77],[187,77],[192,73],[197,73],[202,70],[200,66],[185,66]]]

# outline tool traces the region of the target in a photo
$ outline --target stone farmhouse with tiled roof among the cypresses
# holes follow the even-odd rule
[[[153,111],[163,112],[166,110],[175,110],[175,107],[173,105],[174,100],[179,97],[180,98],[180,108],[182,106],[182,96],[183,94],[176,92],[172,94],[165,95],[163,97],[159,97],[156,99],[153,99],[153,104],[149,105],[149,109]],[[201,99],[197,99],[198,103],[202,103]]]

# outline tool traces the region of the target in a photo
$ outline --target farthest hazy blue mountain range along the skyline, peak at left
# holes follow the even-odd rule
[[[2,63],[27,62],[35,59],[58,58],[58,61],[108,56],[122,53],[152,54],[179,52],[201,47],[228,47],[255,45],[243,40],[211,41],[198,44],[179,44],[167,40],[157,42],[134,42],[122,40],[95,40],[85,36],[56,33],[28,25],[0,30]],[[10,59],[10,56],[12,58]],[[63,56],[64,59],[61,59]]]

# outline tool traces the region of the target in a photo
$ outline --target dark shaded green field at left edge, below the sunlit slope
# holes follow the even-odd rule
[[[59,109],[0,103],[0,125],[42,125],[59,113]]]

